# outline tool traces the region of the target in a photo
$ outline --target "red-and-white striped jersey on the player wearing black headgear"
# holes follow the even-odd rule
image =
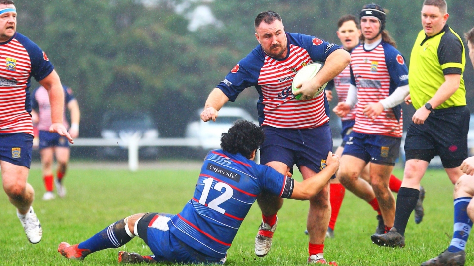
[[[382,41],[373,50],[359,45],[351,53],[351,84],[357,87],[356,124],[353,131],[401,137],[403,119],[400,105],[384,110],[373,121],[363,114],[364,106],[387,98],[396,88],[408,84],[408,69],[395,47]]]

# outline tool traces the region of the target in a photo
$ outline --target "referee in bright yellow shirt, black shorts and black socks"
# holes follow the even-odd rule
[[[396,200],[394,227],[373,236],[380,246],[405,246],[405,228],[419,196],[420,181],[436,155],[454,184],[463,175],[460,165],[468,157],[469,109],[463,71],[464,45],[447,24],[445,0],[425,0],[421,11],[423,31],[410,57],[410,95],[416,112],[405,140],[406,166]]]

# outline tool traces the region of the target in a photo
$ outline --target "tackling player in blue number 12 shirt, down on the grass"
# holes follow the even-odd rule
[[[224,263],[257,195],[266,190],[277,197],[311,199],[339,166],[339,157],[329,152],[325,169],[297,182],[289,173],[283,175],[253,161],[264,138],[262,128],[237,121],[222,134],[222,150],[207,154],[194,196],[180,213],[134,214],[82,243],[71,246],[63,242],[58,252],[68,259],[84,259],[93,252],[123,246],[138,236],[153,255],[119,252],[119,262]]]

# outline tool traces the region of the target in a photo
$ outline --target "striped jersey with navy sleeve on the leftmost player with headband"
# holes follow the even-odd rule
[[[53,69],[40,47],[20,33],[0,43],[0,134],[33,135],[30,80],[41,81]]]

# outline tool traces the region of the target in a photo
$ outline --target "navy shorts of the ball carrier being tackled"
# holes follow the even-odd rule
[[[296,164],[316,173],[326,167],[327,154],[332,151],[332,134],[326,123],[313,129],[280,129],[262,127],[265,141],[260,147],[260,163],[282,162],[290,169]],[[335,175],[332,177],[335,178]]]

